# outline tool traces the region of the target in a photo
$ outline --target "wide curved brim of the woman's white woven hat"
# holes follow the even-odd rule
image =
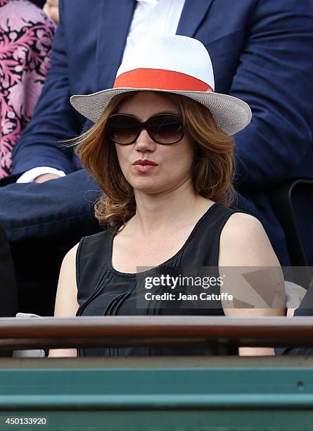
[[[92,94],[71,96],[70,103],[76,111],[96,123],[114,96],[136,91],[181,94],[181,96],[196,100],[211,111],[219,128],[229,136],[243,130],[252,118],[250,106],[245,101],[228,94],[215,92],[192,92],[155,88],[112,88]]]

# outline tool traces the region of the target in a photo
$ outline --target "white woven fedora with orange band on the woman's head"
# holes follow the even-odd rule
[[[74,108],[96,123],[117,94],[138,90],[181,94],[198,101],[211,112],[227,135],[242,130],[251,110],[241,99],[214,92],[212,61],[205,46],[186,36],[161,36],[139,44],[117,70],[113,88],[70,98]]]

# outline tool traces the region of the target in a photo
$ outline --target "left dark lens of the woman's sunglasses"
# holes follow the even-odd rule
[[[108,121],[108,135],[116,144],[131,144],[138,131],[138,121],[129,115],[113,115]]]

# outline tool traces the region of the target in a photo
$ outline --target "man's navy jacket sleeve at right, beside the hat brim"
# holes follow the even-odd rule
[[[312,144],[312,46],[311,0],[257,2],[230,91],[253,111],[235,136],[239,191],[279,184]]]

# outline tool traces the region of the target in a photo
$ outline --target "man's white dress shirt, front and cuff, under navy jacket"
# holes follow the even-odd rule
[[[122,61],[131,55],[137,42],[151,37],[175,35],[185,0],[137,0],[129,27]],[[54,173],[64,177],[62,170],[40,166],[27,170],[17,182],[33,182],[39,175]]]

